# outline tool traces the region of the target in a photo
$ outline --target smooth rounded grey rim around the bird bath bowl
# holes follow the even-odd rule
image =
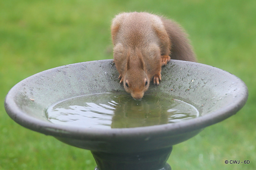
[[[110,64],[112,60],[102,60],[102,61],[89,61],[89,62],[83,62],[83,63],[75,63],[70,64],[68,66],[75,66],[76,64],[91,64],[91,63],[108,63]],[[25,82],[30,81],[31,79],[35,78],[36,76],[39,76],[40,74],[49,73],[49,72],[55,72],[56,70],[62,68],[63,66],[51,68],[49,70],[45,70],[43,72],[39,72],[37,74],[34,74],[33,76],[30,76],[18,84],[16,84],[7,94],[4,106],[6,108],[6,111],[8,112],[9,116],[14,119],[17,123],[20,125],[31,129],[33,131],[37,131],[40,133],[44,133],[46,135],[52,135],[54,137],[69,137],[74,139],[98,139],[98,138],[127,138],[127,137],[139,137],[144,138],[148,135],[159,135],[159,134],[168,134],[168,135],[178,135],[180,133],[187,133],[189,131],[197,131],[200,129],[203,129],[207,126],[210,126],[212,124],[218,123],[231,115],[235,114],[238,110],[240,110],[244,104],[246,103],[246,100],[248,98],[248,89],[244,82],[234,76],[233,74],[226,72],[224,70],[221,70],[220,68],[215,68],[212,66],[208,66],[206,64],[200,64],[200,63],[192,63],[187,61],[177,61],[177,60],[171,60],[170,63],[172,64],[182,64],[182,65],[189,65],[193,64],[198,67],[212,69],[214,71],[222,72],[222,74],[229,76],[233,79],[234,82],[237,83],[237,86],[239,87],[236,90],[236,94],[238,94],[238,97],[234,97],[232,100],[232,103],[229,103],[228,106],[221,107],[211,113],[208,113],[206,115],[196,117],[194,119],[181,121],[177,123],[170,123],[170,124],[163,124],[163,125],[154,125],[154,126],[147,126],[147,127],[133,127],[133,128],[122,128],[122,129],[88,129],[83,127],[76,127],[76,126],[67,126],[67,125],[60,125],[60,124],[54,124],[50,121],[43,121],[38,118],[35,118],[33,116],[28,115],[22,109],[20,109],[19,106],[17,106],[14,96],[18,93],[17,90],[20,90],[21,84],[25,84]],[[170,64],[169,63],[169,64]],[[112,65],[113,66],[113,65]],[[163,68],[164,70],[164,68]],[[164,81],[164,75],[162,76]],[[118,77],[116,77],[117,79]],[[117,82],[116,82],[117,83]],[[161,82],[162,83],[162,82]],[[160,83],[160,86],[161,86]],[[121,88],[123,88],[121,86]]]

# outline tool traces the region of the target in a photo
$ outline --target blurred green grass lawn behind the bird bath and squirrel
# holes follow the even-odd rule
[[[43,70],[112,59],[111,20],[132,11],[178,21],[190,35],[199,63],[231,72],[249,89],[248,102],[236,115],[174,146],[168,160],[172,169],[256,167],[255,0],[0,0],[0,170],[94,169],[90,151],[12,121],[4,98],[20,80]]]

